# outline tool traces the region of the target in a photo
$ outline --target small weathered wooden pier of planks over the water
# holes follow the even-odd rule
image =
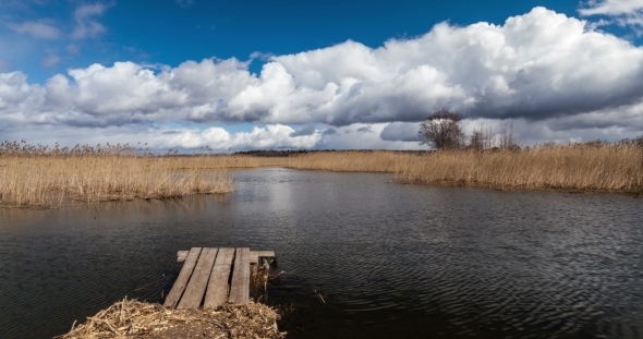
[[[251,273],[259,258],[271,258],[272,251],[250,251],[247,247],[192,247],[179,251],[178,262],[184,262],[179,277],[163,305],[178,308],[215,308],[250,300]]]

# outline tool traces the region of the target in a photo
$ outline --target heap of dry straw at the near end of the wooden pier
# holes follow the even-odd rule
[[[168,310],[159,304],[123,300],[74,323],[70,332],[57,338],[283,338],[275,310],[247,303],[217,310]]]

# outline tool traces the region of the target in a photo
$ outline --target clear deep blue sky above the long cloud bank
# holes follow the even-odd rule
[[[19,4],[20,3],[20,4]],[[425,34],[439,22],[456,25],[476,22],[502,24],[507,17],[542,5],[577,15],[579,2],[571,1],[102,1],[101,14],[90,20],[105,32],[74,38],[74,11],[94,2],[29,1],[4,4],[1,27],[4,71],[19,70],[43,83],[68,68],[92,63],[135,61],[179,65],[185,60],[238,58],[250,60],[255,52],[288,55],[324,48],[348,39],[369,47],[389,38]],[[181,4],[183,3],[183,4]],[[56,38],[37,38],[11,29],[10,23],[44,21],[59,33]],[[614,28],[614,27],[612,27]],[[77,53],[66,51],[77,47]],[[15,46],[15,47],[14,47]],[[15,49],[14,49],[15,48]],[[60,62],[43,66],[58,56]],[[252,70],[260,70],[262,60]]]

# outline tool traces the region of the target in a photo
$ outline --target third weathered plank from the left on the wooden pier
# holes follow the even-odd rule
[[[233,257],[234,249],[219,249],[208,288],[205,292],[204,308],[215,308],[226,303],[228,299],[228,278],[230,277]]]

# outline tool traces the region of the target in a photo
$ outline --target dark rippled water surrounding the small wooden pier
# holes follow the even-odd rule
[[[191,246],[275,250],[286,274],[268,303],[289,338],[643,337],[641,199],[284,169],[235,180],[226,197],[0,210],[0,337],[61,335],[124,295],[160,301]]]

